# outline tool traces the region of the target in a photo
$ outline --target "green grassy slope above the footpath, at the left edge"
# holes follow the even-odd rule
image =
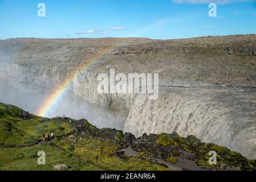
[[[36,143],[43,134],[61,135],[60,127],[64,128],[63,134],[72,131],[68,123],[54,119],[43,123],[40,117],[23,120],[19,118],[22,113],[18,107],[0,103],[0,145]]]

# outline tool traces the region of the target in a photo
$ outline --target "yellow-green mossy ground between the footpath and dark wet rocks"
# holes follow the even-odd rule
[[[59,146],[67,149],[72,139],[62,139],[63,145]],[[60,142],[58,142],[60,144]],[[82,138],[76,143],[76,148],[70,152],[71,155],[79,155],[80,158],[99,166],[104,170],[168,170],[157,164],[137,161],[136,158],[122,156],[123,159],[112,155],[118,147],[111,140],[101,140],[100,138]]]

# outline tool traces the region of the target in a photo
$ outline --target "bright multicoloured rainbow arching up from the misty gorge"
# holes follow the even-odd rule
[[[126,40],[126,39],[124,39]],[[120,46],[123,43],[117,42],[113,44],[112,46],[109,46],[109,48],[101,49],[100,52],[96,53],[93,57],[90,59],[84,61],[80,67],[76,69],[74,73],[71,74],[66,80],[62,82],[62,84],[58,85],[51,94],[46,98],[46,100],[43,102],[42,105],[40,105],[38,111],[36,111],[36,115],[40,115],[42,117],[46,117],[48,111],[52,109],[52,107],[58,102],[63,96],[64,93],[68,90],[69,86],[72,84],[72,82],[78,77],[78,75],[84,71],[86,71],[92,64],[95,63],[96,60],[99,60],[100,57],[106,55],[108,52],[110,52],[113,48],[116,48],[117,46]]]

